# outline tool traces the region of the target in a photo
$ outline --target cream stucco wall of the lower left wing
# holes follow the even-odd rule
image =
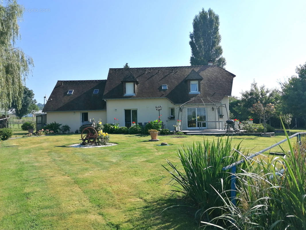
[[[88,120],[95,119],[95,121],[98,121],[101,118],[103,124],[107,123],[106,110],[48,112],[47,123],[56,121],[63,125],[69,125],[70,132],[75,132],[81,126],[82,112],[88,113]]]

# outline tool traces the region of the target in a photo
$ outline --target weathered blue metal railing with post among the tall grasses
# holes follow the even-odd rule
[[[300,143],[301,135],[303,135],[303,134],[306,134],[306,132],[297,132],[297,133],[289,136],[289,139],[291,139],[291,138],[296,136],[298,143]],[[261,153],[263,153],[265,151],[268,151],[271,148],[274,148],[274,147],[284,143],[287,140],[288,139],[285,138],[284,140],[281,140],[280,142],[278,142],[276,144],[273,144],[273,145],[271,145],[268,148],[260,150],[259,152],[256,152],[256,153],[254,153],[254,154],[252,154],[250,156],[245,156],[245,159],[252,159],[253,157],[255,157],[255,156],[257,156],[257,155],[259,155],[259,154],[261,154]],[[235,163],[232,163],[232,164],[222,168],[222,170],[224,170],[224,171],[231,169],[231,173],[232,173],[232,175],[231,175],[231,201],[232,201],[233,205],[236,205],[236,176],[235,176],[235,174],[236,174],[236,167],[237,167],[237,165],[240,165],[243,162],[244,162],[244,159],[241,159],[241,160],[239,160],[239,161],[237,161]]]

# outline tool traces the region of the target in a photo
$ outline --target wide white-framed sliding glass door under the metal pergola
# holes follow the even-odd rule
[[[187,108],[188,128],[207,128],[205,108]]]

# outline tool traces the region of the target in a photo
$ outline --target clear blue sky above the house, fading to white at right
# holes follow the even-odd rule
[[[57,80],[106,79],[109,68],[190,65],[192,19],[204,8],[220,17],[233,95],[278,87],[306,62],[306,1],[42,1],[26,9],[17,42],[35,67],[26,86],[37,102]],[[49,12],[30,12],[45,11]],[[32,10],[33,11],[33,10]]]

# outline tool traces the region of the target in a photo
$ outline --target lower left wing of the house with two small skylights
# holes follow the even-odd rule
[[[58,81],[43,108],[47,123],[69,125],[70,132],[75,132],[84,121],[106,121],[105,83],[106,80]]]

